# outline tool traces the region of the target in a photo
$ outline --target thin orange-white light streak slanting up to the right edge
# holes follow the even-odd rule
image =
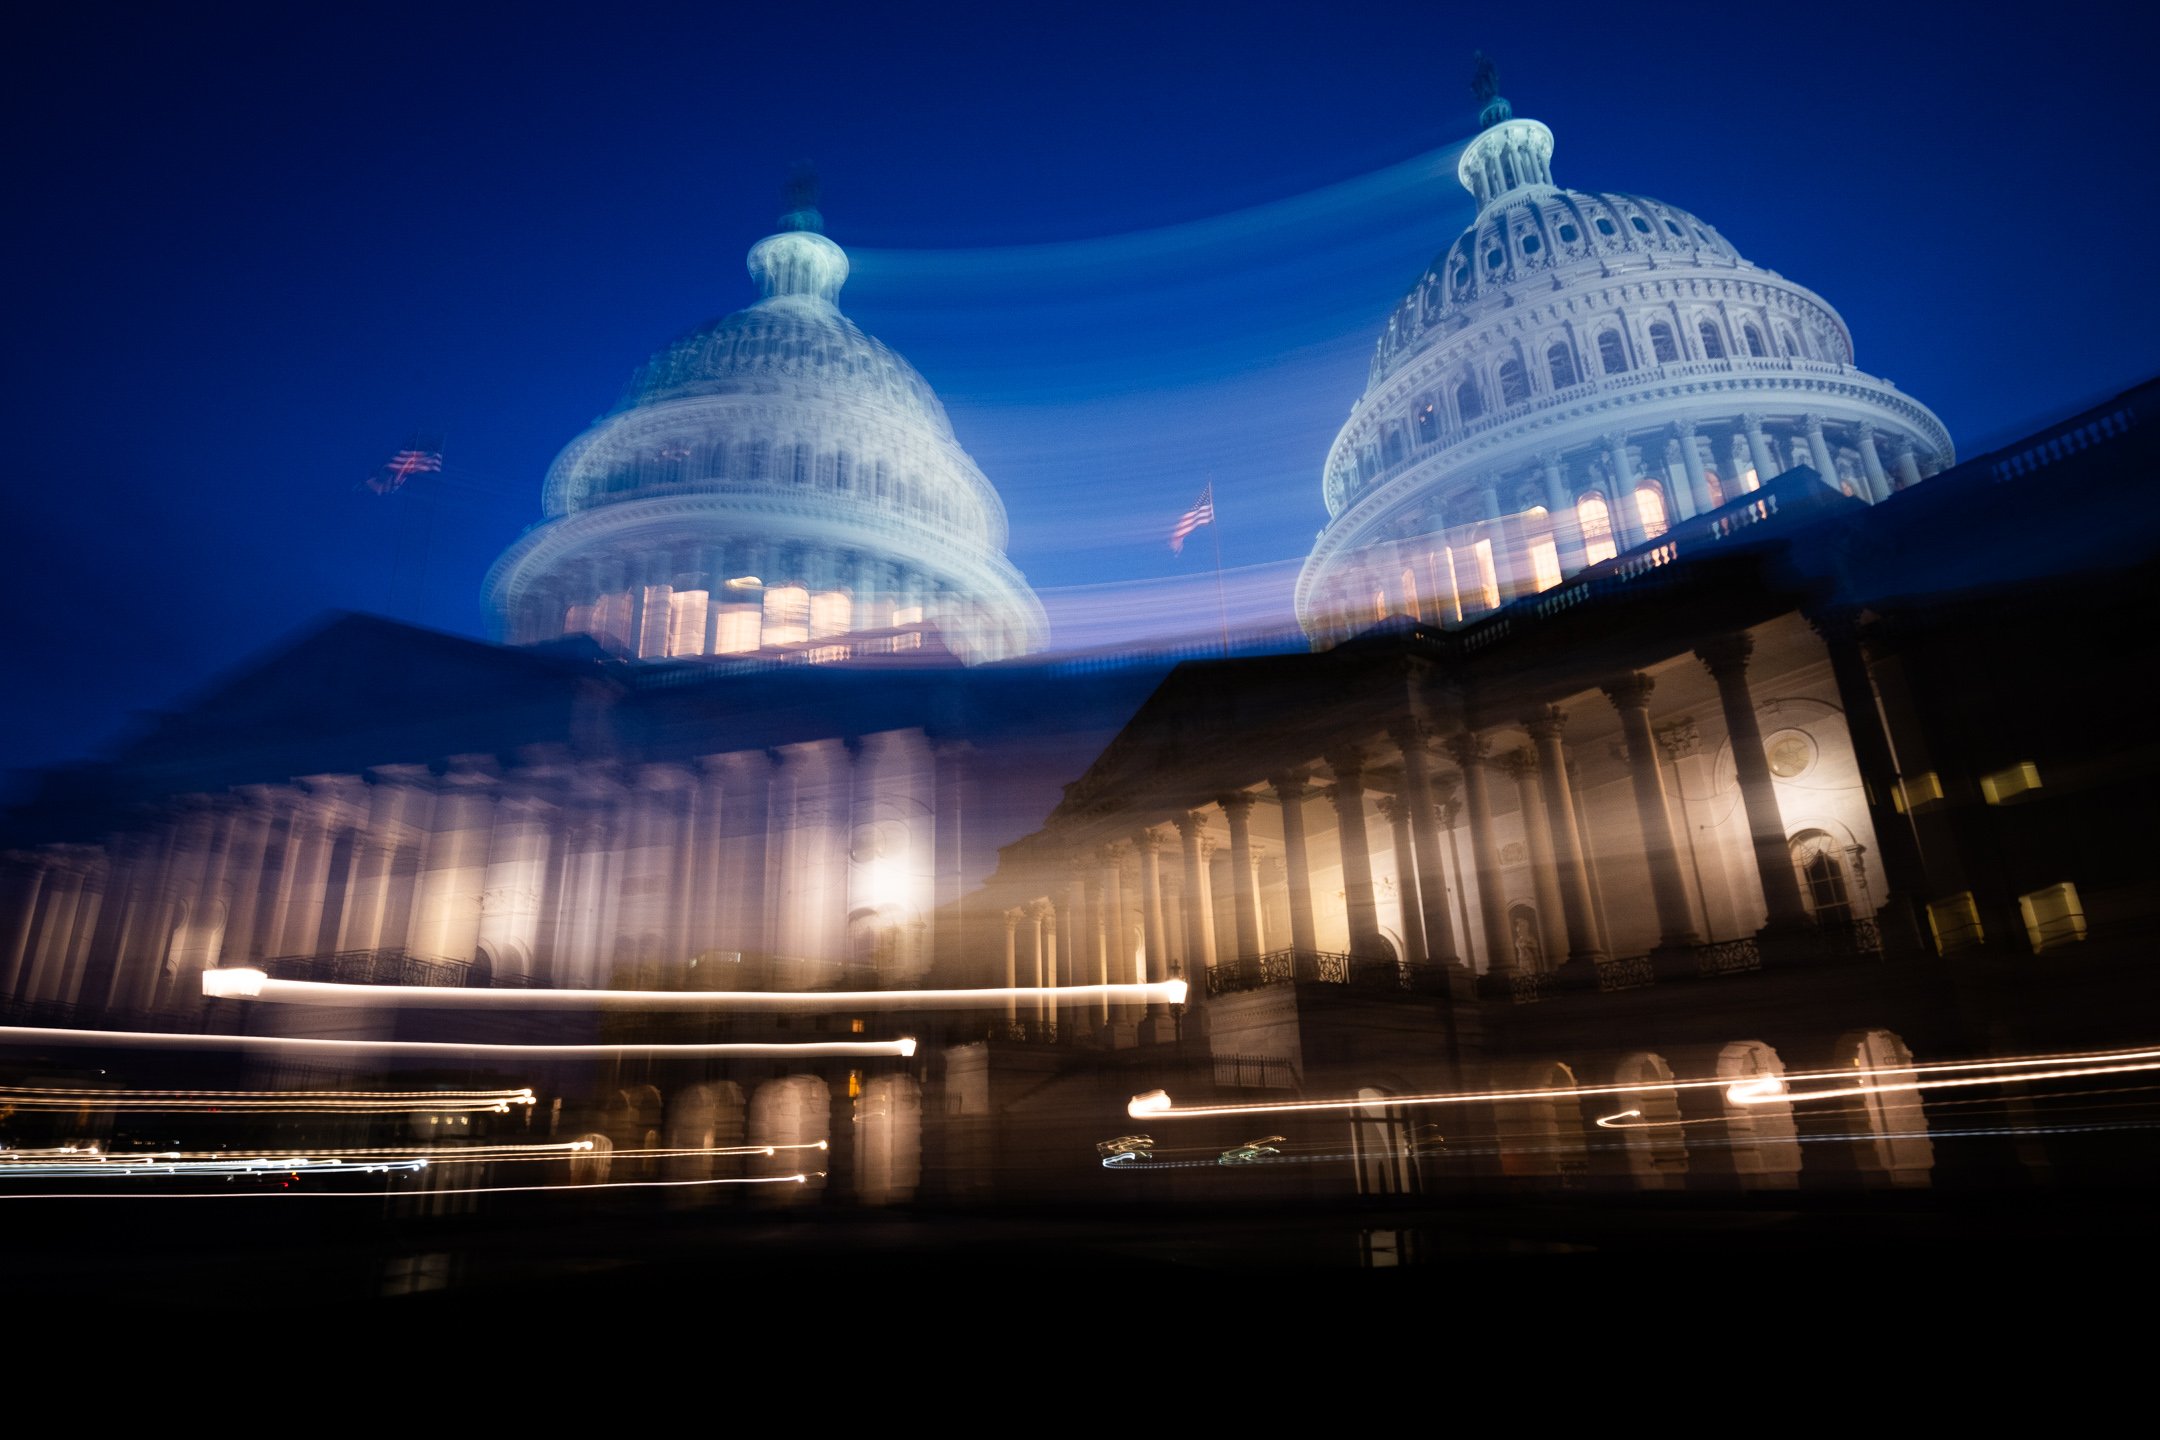
[[[1257,1114],[1341,1114],[1385,1105],[1387,1110],[1410,1105],[1467,1105],[1482,1101],[1551,1101],[1579,1099],[1588,1095],[1670,1095],[1678,1090],[1724,1090],[1734,1105],[1771,1105],[1778,1101],[1804,1103],[1817,1099],[1838,1099],[1855,1095],[1892,1095],[1905,1090],[1935,1090],[1950,1086],[1996,1086],[2033,1084],[2046,1079],[2069,1079],[2078,1075],[2130,1075],[2160,1071],[2160,1049],[2112,1049],[2063,1056],[2020,1056],[2011,1060],[1940,1060],[1909,1062],[1899,1067],[1797,1071],[1793,1075],[1763,1075],[1750,1079],[1668,1079],[1633,1082],[1609,1086],[1549,1086],[1536,1090],[1462,1090],[1441,1095],[1389,1095],[1374,1099],[1335,1101],[1277,1101],[1251,1105],[1177,1105],[1164,1090],[1134,1095],[1125,1114],[1136,1120],[1151,1116],[1190,1120],[1203,1116],[1257,1116]],[[1853,1077],[1862,1084],[1851,1084]],[[1830,1082],[1823,1090],[1795,1090],[1795,1082]],[[1618,1118],[1618,1116],[1616,1116]]]

